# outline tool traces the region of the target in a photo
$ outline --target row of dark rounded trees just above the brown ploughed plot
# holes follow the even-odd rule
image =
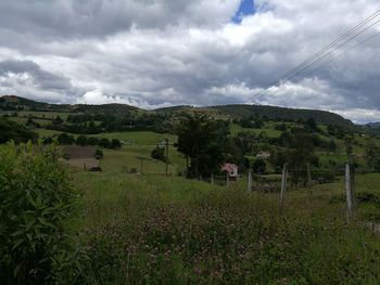
[[[106,138],[96,138],[96,137],[87,137],[87,135],[79,135],[77,139],[74,138],[74,135],[68,134],[66,132],[62,132],[56,137],[56,141],[61,145],[71,145],[76,144],[80,146],[101,146],[104,148],[119,148],[122,147],[121,140],[112,139],[109,140]],[[52,137],[43,138],[43,144],[50,144],[53,142]]]

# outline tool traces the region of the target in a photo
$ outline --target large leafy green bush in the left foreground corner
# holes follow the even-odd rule
[[[65,232],[75,193],[58,152],[0,146],[0,283],[65,283],[75,250]]]

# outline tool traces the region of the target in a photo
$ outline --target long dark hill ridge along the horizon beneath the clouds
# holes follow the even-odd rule
[[[267,117],[274,120],[299,120],[313,118],[316,122],[322,125],[333,125],[344,128],[358,128],[351,120],[343,118],[340,115],[326,111],[317,109],[297,109],[284,108],[276,106],[262,105],[221,105],[210,107],[193,107],[193,106],[173,106],[159,108],[155,111],[144,111],[125,104],[104,104],[104,105],[61,105],[36,102],[33,100],[20,96],[2,96],[0,98],[0,109],[3,111],[38,111],[38,112],[66,112],[66,113],[102,113],[102,114],[123,114],[123,113],[166,113],[180,114],[192,111],[204,112],[211,116],[218,116],[229,119],[239,119],[249,116]]]

